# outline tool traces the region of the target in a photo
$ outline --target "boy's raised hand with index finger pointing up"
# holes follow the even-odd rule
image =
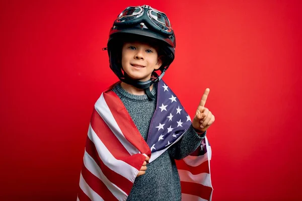
[[[192,121],[193,128],[198,133],[205,132],[215,121],[214,115],[212,115],[212,113],[204,107],[209,92],[210,89],[206,88],[200,100],[195,117]]]

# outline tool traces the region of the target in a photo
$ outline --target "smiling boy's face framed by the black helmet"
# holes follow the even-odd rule
[[[143,42],[126,42],[122,47],[122,67],[132,79],[147,81],[161,67],[155,47]]]

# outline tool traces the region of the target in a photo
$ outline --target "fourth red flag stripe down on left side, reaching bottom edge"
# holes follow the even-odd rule
[[[112,194],[112,192],[107,188],[101,179],[96,177],[91,173],[85,165],[82,168],[82,175],[86,183],[98,193],[104,200],[117,200],[117,198]]]

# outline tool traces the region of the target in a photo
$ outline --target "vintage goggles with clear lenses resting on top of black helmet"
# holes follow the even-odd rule
[[[128,7],[115,20],[114,26],[129,26],[146,23],[148,28],[160,31],[166,35],[172,35],[173,30],[166,14],[151,8],[150,6]]]

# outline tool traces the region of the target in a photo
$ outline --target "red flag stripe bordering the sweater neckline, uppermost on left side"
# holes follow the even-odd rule
[[[151,150],[136,128],[121,99],[113,91],[104,93],[104,98],[125,138],[141,153],[150,157]]]

